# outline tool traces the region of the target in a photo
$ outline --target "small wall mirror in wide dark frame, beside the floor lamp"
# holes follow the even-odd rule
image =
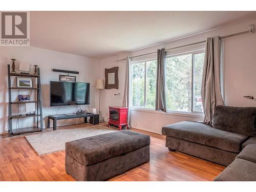
[[[105,69],[105,89],[118,89],[118,67]]]

